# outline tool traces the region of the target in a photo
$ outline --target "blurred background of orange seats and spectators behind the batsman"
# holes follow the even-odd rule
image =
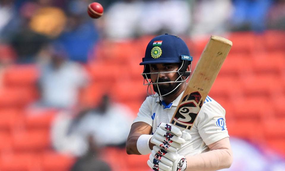
[[[227,111],[229,171],[285,170],[284,0],[0,0],[0,171],[149,170],[125,141],[147,96],[139,62],[159,34],[194,69],[233,42],[210,96]]]

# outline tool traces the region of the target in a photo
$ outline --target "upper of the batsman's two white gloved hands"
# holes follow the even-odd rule
[[[191,135],[188,132],[181,132],[178,127],[171,124],[160,123],[151,138],[151,143],[170,152],[177,152],[185,140],[190,140],[189,138],[191,139]]]

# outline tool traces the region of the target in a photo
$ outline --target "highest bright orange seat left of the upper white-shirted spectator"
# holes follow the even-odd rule
[[[5,85],[34,85],[39,77],[39,71],[36,65],[12,65],[4,71]]]

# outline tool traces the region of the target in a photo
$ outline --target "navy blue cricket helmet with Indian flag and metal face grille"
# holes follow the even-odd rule
[[[179,69],[175,72],[178,73],[181,80],[177,79],[174,82],[182,83],[185,82],[190,75],[191,68],[190,71],[186,70],[188,65],[191,65],[192,60],[193,57],[190,56],[190,52],[186,43],[180,37],[170,34],[163,34],[154,37],[148,43],[145,50],[145,57],[143,58],[143,61],[140,63],[140,65],[144,65],[144,70],[142,75],[144,79],[147,80],[148,82],[147,84],[144,85],[159,84],[159,83],[151,83],[148,81],[148,79],[150,79],[150,74],[151,74],[149,64],[180,63]],[[181,76],[186,76],[186,79],[182,79]],[[162,95],[159,94],[159,96]]]

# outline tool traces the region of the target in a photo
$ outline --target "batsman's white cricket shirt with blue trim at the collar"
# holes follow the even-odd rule
[[[153,134],[159,123],[170,123],[182,95],[183,92],[167,106],[165,106],[163,98],[161,98],[162,105],[159,105],[158,97],[147,97],[133,123],[145,122],[149,124],[152,126]],[[192,129],[188,130],[192,137],[191,140],[186,141],[178,153],[180,155],[200,154],[209,151],[207,145],[229,137],[225,124],[225,113],[226,111],[218,102],[207,96]]]

